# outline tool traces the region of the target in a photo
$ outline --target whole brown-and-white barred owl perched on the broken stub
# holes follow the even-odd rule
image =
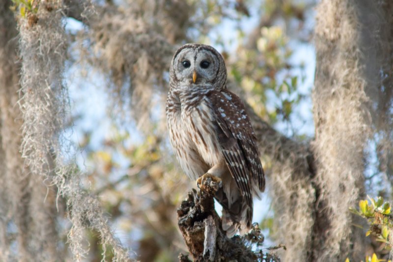
[[[223,206],[228,237],[246,233],[253,195],[265,188],[250,118],[239,97],[226,89],[224,58],[211,46],[186,44],[169,70],[167,122],[170,143],[183,171],[200,181],[218,177],[216,200]]]

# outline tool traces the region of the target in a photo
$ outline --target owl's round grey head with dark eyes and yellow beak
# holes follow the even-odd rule
[[[179,91],[225,88],[224,58],[208,45],[185,44],[180,47],[172,58],[169,74],[170,87]]]

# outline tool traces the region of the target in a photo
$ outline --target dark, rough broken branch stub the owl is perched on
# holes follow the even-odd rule
[[[177,210],[178,226],[194,261],[279,261],[273,254],[253,252],[252,246],[261,246],[264,240],[258,226],[245,236],[226,237],[221,227],[221,218],[214,209],[214,195],[219,186],[211,178],[203,181],[204,190],[188,193]],[[181,262],[188,262],[180,254]]]

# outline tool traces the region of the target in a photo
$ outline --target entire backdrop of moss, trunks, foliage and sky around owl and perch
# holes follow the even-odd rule
[[[252,109],[266,246],[287,245],[283,260],[389,256],[349,207],[392,200],[390,0],[0,3],[0,260],[187,253],[176,209],[195,181],[173,157],[165,101],[189,42],[223,54]]]

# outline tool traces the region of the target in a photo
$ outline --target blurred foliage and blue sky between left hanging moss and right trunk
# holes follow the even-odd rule
[[[124,9],[132,5],[127,1],[109,3]],[[147,3],[139,4],[142,9],[150,8]],[[216,47],[225,57],[232,88],[258,116],[287,136],[310,139],[309,93],[315,65],[310,41],[315,1],[189,0],[172,4],[187,9],[175,10],[174,16],[184,13],[184,18],[173,18],[184,19],[176,25],[183,28],[179,36],[168,32],[168,41],[178,46],[200,42]],[[160,1],[155,5],[163,7]],[[156,12],[158,16],[163,10]],[[72,18],[65,22],[71,37],[83,39],[88,29],[81,22]],[[150,100],[142,103],[151,105],[149,116],[140,119],[145,112],[133,107],[138,103],[127,101],[136,95],[132,94],[132,80],[113,87],[108,76],[93,65],[79,62],[79,46],[71,48],[75,62],[66,74],[74,126],[69,136],[79,145],[75,148],[79,167],[88,174],[92,190],[111,215],[121,241],[131,244],[138,254],[136,259],[174,261],[186,250],[176,226],[176,208],[195,185],[179,169],[168,144],[163,109],[166,91],[154,87],[147,98],[138,97]],[[85,52],[91,54],[89,48]],[[162,77],[167,85],[167,73]],[[269,159],[262,163],[270,173]],[[268,195],[263,198],[255,206],[254,222],[260,223],[267,243],[273,244],[269,232],[274,231],[274,212]],[[99,243],[94,235],[90,234],[91,247]],[[91,261],[101,259],[99,250],[92,250],[90,255]]]

